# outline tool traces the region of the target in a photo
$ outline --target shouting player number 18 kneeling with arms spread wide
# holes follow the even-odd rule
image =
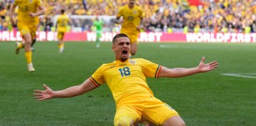
[[[44,91],[35,90],[34,96],[39,101],[51,98],[69,98],[82,95],[102,84],[107,83],[116,104],[115,126],[130,126],[141,122],[164,126],[184,126],[179,114],[168,104],[154,97],[146,77],[182,77],[216,69],[217,61],[205,63],[202,57],[199,65],[190,69],[168,69],[143,58],[130,59],[130,39],[125,34],[118,34],[112,40],[115,61],[103,64],[81,85],[52,91],[43,84]]]

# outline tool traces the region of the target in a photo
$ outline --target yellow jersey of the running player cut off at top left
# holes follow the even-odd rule
[[[32,17],[29,13],[36,13],[42,4],[41,0],[15,0],[14,6],[18,6],[17,23],[39,24],[39,17]]]

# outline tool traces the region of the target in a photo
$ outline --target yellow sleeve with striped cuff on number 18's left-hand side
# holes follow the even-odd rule
[[[100,85],[105,83],[102,66],[103,65],[101,65],[100,68],[97,69],[96,72],[94,72],[92,76],[89,77],[89,79],[92,81],[92,83],[96,85],[96,87],[99,87]]]

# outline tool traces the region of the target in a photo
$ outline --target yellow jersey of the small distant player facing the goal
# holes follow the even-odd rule
[[[57,23],[58,23],[58,32],[66,32],[66,29],[68,27],[69,24],[69,17],[67,17],[66,15],[60,15],[57,18]]]

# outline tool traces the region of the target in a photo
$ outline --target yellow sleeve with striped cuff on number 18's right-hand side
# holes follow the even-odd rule
[[[161,68],[161,65],[157,65],[151,61],[142,59],[142,71],[146,77],[158,78],[158,74]]]

